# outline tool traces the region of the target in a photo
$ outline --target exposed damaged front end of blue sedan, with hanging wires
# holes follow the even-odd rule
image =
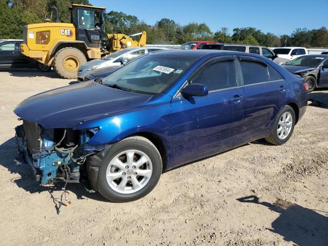
[[[84,164],[88,156],[95,154],[95,150],[88,149],[87,142],[99,128],[45,129],[23,119],[23,125],[17,126],[15,130],[19,150],[40,185],[58,181],[81,182],[88,179]]]

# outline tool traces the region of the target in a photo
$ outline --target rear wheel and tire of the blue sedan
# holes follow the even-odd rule
[[[265,140],[273,145],[282,145],[290,137],[295,127],[295,112],[291,106],[286,105],[279,112],[273,130],[270,136],[266,137]]]

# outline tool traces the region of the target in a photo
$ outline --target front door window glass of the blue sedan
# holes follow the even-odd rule
[[[234,61],[221,61],[199,71],[191,83],[207,85],[209,91],[236,87]]]

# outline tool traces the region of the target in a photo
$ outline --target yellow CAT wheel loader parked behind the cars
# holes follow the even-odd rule
[[[24,27],[22,53],[42,64],[52,66],[63,78],[76,78],[79,66],[88,60],[124,48],[146,46],[146,32],[131,36],[105,32],[103,7],[73,4],[71,23],[60,23],[58,9],[55,23]],[[139,40],[133,37],[139,35]]]

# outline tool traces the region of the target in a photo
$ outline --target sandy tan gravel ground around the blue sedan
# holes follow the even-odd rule
[[[0,245],[328,245],[328,109],[309,106],[283,146],[258,140],[174,169],[134,202],[68,185],[72,204],[57,215],[62,185],[40,187],[16,157],[12,111],[74,81],[0,77]]]

